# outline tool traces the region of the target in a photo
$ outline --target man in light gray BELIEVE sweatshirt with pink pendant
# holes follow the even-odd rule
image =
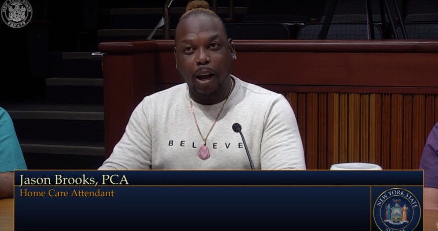
[[[231,75],[237,59],[223,22],[190,4],[175,37],[176,68],[186,83],[145,97],[99,169],[306,169],[286,98]],[[192,3],[192,2],[191,2]]]

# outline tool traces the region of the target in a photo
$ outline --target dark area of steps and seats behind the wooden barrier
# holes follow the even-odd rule
[[[104,79],[101,61],[91,54],[100,42],[144,40],[162,17],[165,0],[29,2],[33,15],[26,26],[12,29],[0,21],[0,107],[13,119],[28,168],[96,169],[105,158]],[[173,3],[171,29],[187,2]],[[378,19],[378,0],[371,2],[376,31],[382,39],[393,39],[388,23]],[[388,2],[397,26],[400,18],[393,1]],[[402,19],[410,23],[438,21],[437,0],[397,2]],[[234,0],[232,18],[228,6],[229,1],[218,0],[219,16],[234,39],[315,39],[319,29],[312,23],[324,20],[329,0]],[[364,0],[338,0],[332,22],[349,25],[339,30],[345,37],[331,38],[364,39],[365,13]],[[362,34],[350,33],[357,25]],[[313,29],[300,37],[304,26]],[[431,38],[418,31],[420,39]],[[438,30],[428,31],[438,38]],[[163,39],[162,29],[153,39]]]

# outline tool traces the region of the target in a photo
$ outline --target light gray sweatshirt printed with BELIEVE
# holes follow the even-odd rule
[[[198,151],[203,140],[191,112],[186,83],[146,96],[132,112],[125,133],[99,169],[250,169],[242,132],[256,169],[306,169],[294,112],[278,93],[232,76],[232,90],[207,139],[210,158]],[[202,135],[210,130],[223,101],[193,106]]]

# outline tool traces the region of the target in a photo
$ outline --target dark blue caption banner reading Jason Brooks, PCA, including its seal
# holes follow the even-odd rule
[[[423,171],[15,171],[14,193],[15,231],[423,230]]]

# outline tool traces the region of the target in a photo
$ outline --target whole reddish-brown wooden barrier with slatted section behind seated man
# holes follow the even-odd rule
[[[338,162],[417,169],[438,122],[438,41],[235,41],[232,73],[282,93],[309,169]],[[109,156],[141,99],[183,82],[173,41],[106,42]]]

